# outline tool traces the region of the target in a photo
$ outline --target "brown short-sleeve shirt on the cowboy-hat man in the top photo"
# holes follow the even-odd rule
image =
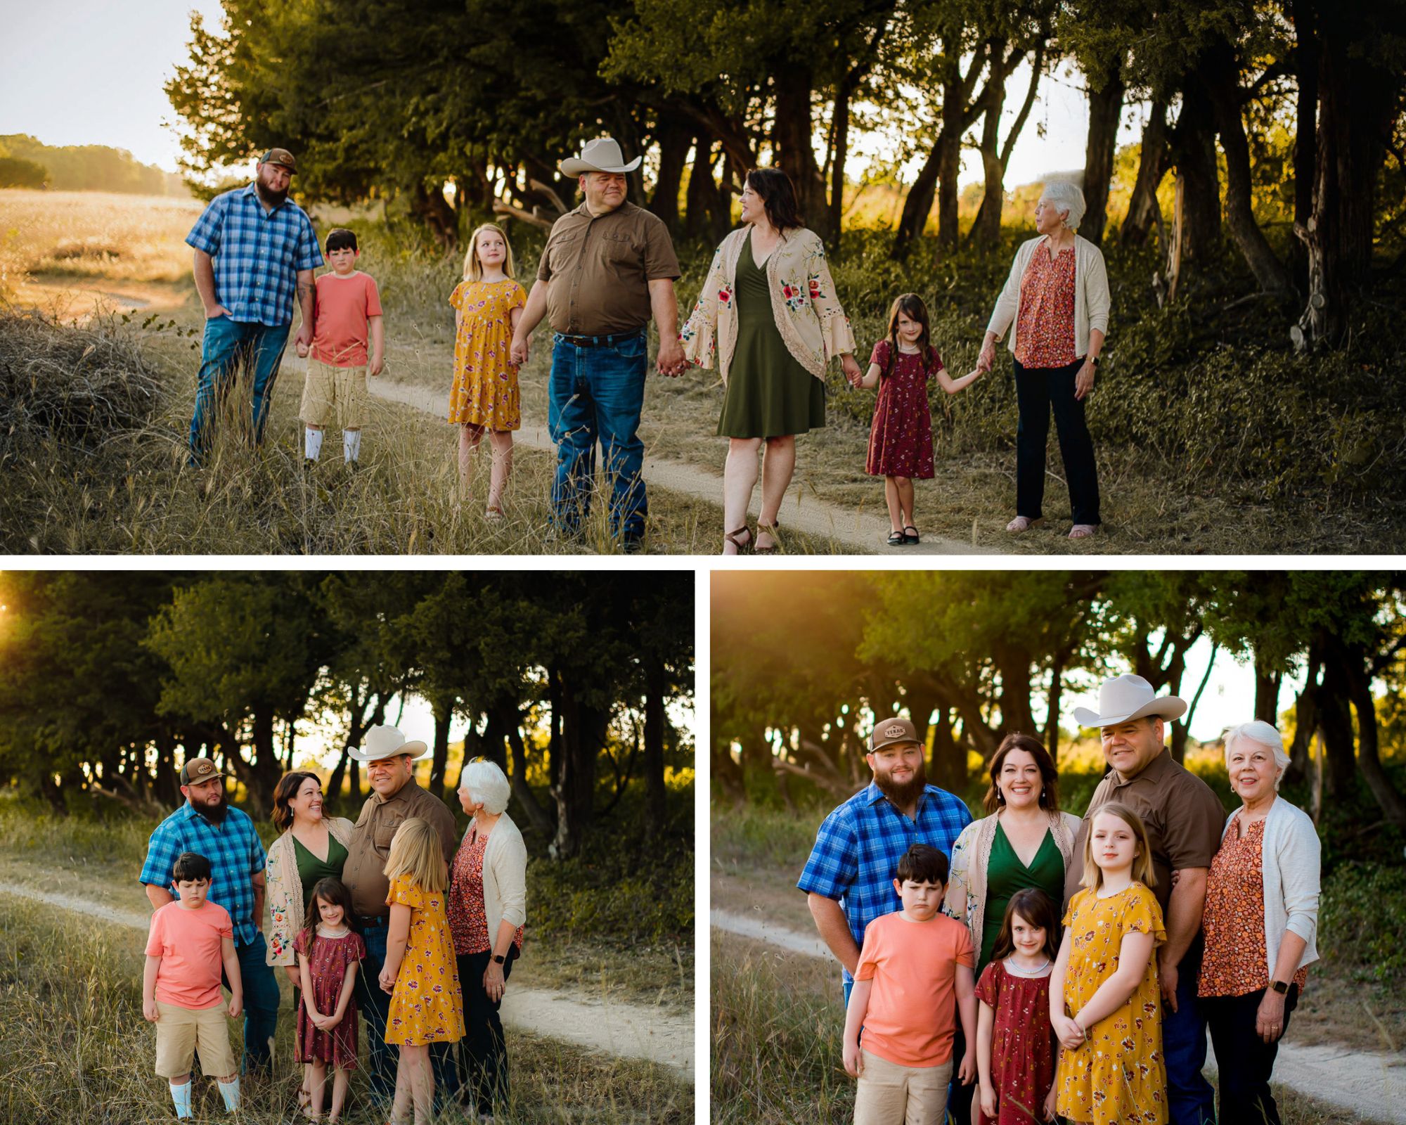
[[[614,336],[650,323],[650,281],[675,280],[679,260],[664,222],[623,202],[605,215],[585,204],[547,236],[537,280],[551,281],[547,319],[568,336]]]

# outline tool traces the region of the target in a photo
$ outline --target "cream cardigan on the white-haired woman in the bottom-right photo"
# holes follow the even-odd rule
[[[1220,838],[1226,838],[1243,806],[1226,818]],[[1306,942],[1303,956],[1294,966],[1298,972],[1317,960],[1317,897],[1323,845],[1313,820],[1302,809],[1277,796],[1264,818],[1264,844],[1260,875],[1264,880],[1264,952],[1274,980],[1279,944],[1285,931]]]

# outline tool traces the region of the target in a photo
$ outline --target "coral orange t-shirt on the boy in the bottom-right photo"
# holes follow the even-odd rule
[[[865,928],[855,980],[873,980],[860,1043],[897,1066],[941,1066],[956,1032],[957,965],[976,968],[956,918],[907,921],[898,911]]]

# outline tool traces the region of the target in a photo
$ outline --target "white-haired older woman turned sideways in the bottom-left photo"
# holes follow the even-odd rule
[[[527,847],[503,810],[512,789],[494,762],[464,766],[458,800],[472,816],[450,866],[449,925],[464,990],[460,1100],[479,1121],[508,1102],[508,1048],[498,1008],[527,921]]]

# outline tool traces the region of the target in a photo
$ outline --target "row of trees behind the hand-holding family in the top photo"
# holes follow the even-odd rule
[[[1181,257],[1212,260],[1223,215],[1261,288],[1313,294],[1310,328],[1333,336],[1378,228],[1406,219],[1403,44],[1406,0],[225,0],[222,28],[193,17],[167,93],[191,170],[292,145],[309,195],[404,194],[446,242],[495,201],[553,217],[575,190],[558,159],[609,131],[650,153],[648,191],[643,176],[633,191],[678,232],[720,236],[730,191],[765,158],[835,243],[852,136],[877,129],[891,142],[879,174],[921,160],[903,257],[934,201],[938,249],[956,248],[966,148],[986,177],[972,238],[997,240],[1015,141],[1040,83],[1071,65],[1088,94],[1087,149],[1067,165],[1083,158],[1084,232],[1104,235],[1118,127],[1146,105],[1122,238],[1161,226],[1157,186],[1175,172]],[[1008,105],[1021,65],[1031,79]],[[1289,197],[1288,255],[1254,212],[1267,179]]]

